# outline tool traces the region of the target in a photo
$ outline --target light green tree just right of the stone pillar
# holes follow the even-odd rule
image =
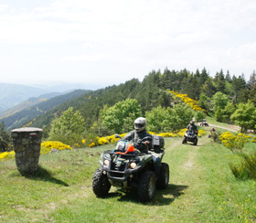
[[[80,143],[84,130],[84,119],[80,112],[73,112],[73,107],[69,107],[51,122],[48,139],[67,144]]]

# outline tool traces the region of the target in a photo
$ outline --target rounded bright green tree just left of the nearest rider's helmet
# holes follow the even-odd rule
[[[114,133],[130,131],[134,120],[140,116],[142,116],[141,106],[135,99],[120,101],[102,114],[103,124]]]

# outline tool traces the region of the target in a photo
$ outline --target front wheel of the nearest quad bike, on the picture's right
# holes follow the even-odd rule
[[[148,202],[155,196],[155,174],[153,171],[145,171],[138,185],[138,196],[141,202]]]

